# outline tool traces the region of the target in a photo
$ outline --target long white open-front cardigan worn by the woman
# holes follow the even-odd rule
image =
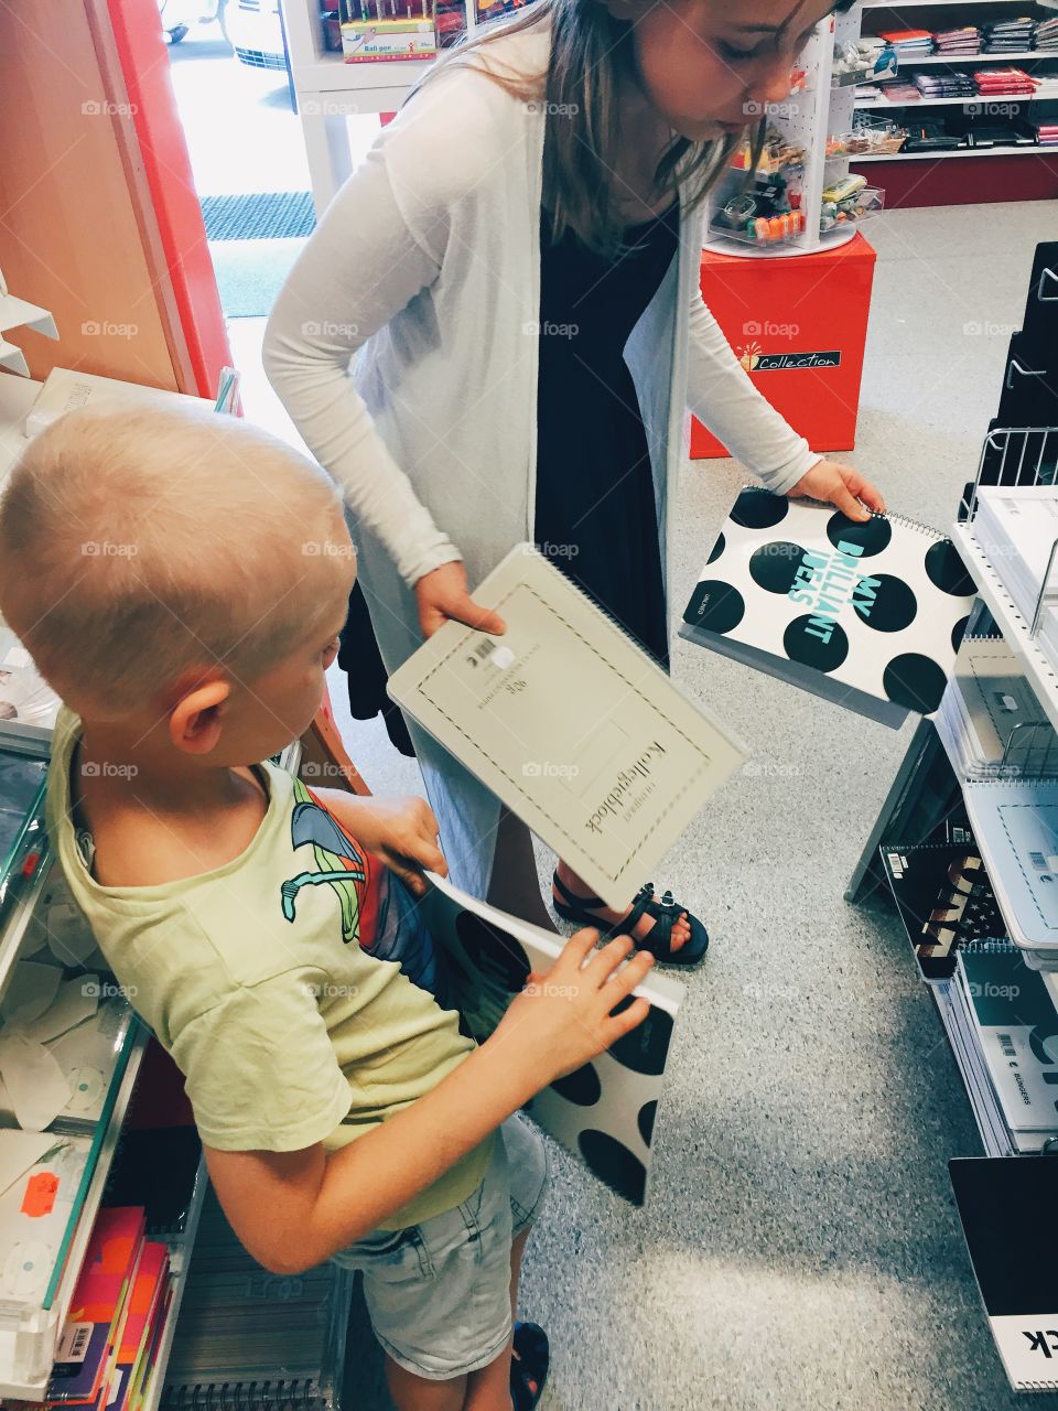
[[[480,58],[539,73],[549,47],[540,24]],[[440,65],[337,193],[268,320],[265,371],[343,487],[389,670],[419,642],[419,577],[463,559],[473,590],[535,538],[545,121],[542,104],[466,63]],[[779,492],[821,459],[756,391],[703,303],[700,253],[694,213],[625,349],[663,563],[688,409]],[[453,880],[484,895],[498,803],[422,732],[415,742]]]

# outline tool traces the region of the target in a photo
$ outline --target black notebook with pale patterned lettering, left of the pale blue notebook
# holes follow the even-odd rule
[[[923,979],[951,979],[959,945],[1006,934],[985,865],[972,844],[884,844],[886,878]]]

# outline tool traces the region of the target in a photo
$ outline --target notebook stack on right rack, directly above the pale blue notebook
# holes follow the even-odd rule
[[[1002,638],[963,638],[937,728],[966,779],[1058,773],[1058,741]]]

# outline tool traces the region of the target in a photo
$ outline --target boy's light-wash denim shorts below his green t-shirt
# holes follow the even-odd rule
[[[333,1256],[363,1270],[371,1326],[398,1366],[449,1381],[495,1362],[511,1338],[511,1242],[533,1223],[546,1188],[539,1133],[508,1118],[461,1205]]]

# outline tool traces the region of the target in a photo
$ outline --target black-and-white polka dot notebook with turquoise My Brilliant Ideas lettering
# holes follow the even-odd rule
[[[897,728],[941,704],[973,597],[951,539],[927,525],[748,488],[680,635]]]

